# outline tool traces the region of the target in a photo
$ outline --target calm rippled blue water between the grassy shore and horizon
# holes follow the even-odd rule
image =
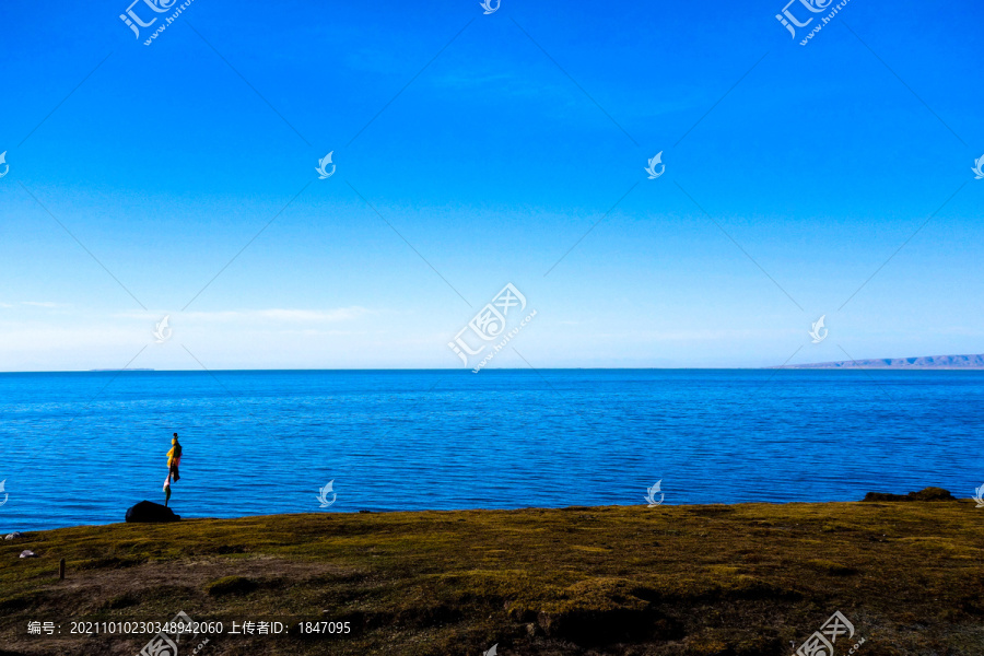
[[[984,372],[0,374],[0,530],[163,502],[175,431],[186,517],[969,497],[982,408]]]

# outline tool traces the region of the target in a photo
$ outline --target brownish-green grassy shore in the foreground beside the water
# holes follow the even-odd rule
[[[19,559],[24,550],[38,558]],[[65,581],[59,559],[67,561]],[[984,654],[984,509],[937,503],[304,514],[0,541],[0,654],[137,654],[72,620],[348,621],[211,655],[780,656],[835,611],[855,655]],[[50,620],[60,636],[27,635]],[[180,656],[191,653],[184,648]]]

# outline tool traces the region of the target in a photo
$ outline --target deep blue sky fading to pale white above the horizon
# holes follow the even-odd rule
[[[0,7],[0,371],[984,350],[979,2],[127,5]]]

